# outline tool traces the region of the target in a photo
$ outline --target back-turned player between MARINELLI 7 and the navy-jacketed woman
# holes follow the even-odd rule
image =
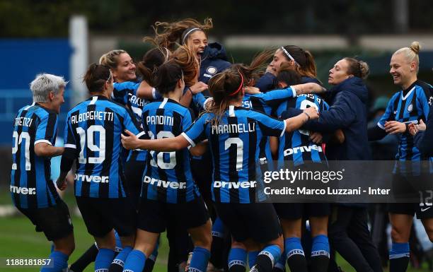
[[[280,88],[301,82],[301,76],[293,67],[282,64],[279,67],[276,78]],[[311,83],[310,83],[311,84]],[[272,91],[268,92],[272,93]],[[315,107],[318,112],[328,110],[328,104],[323,98],[314,94],[299,95],[286,100],[276,110],[277,117],[286,117],[285,113],[290,108],[304,110],[306,107]],[[298,129],[287,132],[279,141],[279,162],[289,161],[286,167],[296,167],[301,170],[326,170],[327,159],[322,146],[312,140],[311,131]],[[311,270],[327,271],[329,261],[328,242],[328,215],[329,203],[274,203],[279,216],[284,236],[284,266],[285,261],[291,271],[308,271],[306,256],[301,244],[302,219],[309,220],[311,237]]]

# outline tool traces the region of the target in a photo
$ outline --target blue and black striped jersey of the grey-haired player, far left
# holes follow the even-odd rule
[[[35,144],[54,145],[57,114],[37,103],[18,111],[12,134],[11,195],[19,208],[47,208],[59,195],[50,179],[50,158],[35,155]]]

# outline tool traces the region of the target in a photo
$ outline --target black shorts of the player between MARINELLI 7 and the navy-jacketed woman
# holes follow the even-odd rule
[[[330,203],[274,203],[281,219],[300,219],[330,215]]]

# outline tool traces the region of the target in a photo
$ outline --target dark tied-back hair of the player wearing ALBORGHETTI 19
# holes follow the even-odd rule
[[[104,84],[112,78],[108,66],[91,64],[88,66],[83,82],[86,83],[90,93],[102,93]]]

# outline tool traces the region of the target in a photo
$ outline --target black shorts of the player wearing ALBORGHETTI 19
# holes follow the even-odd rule
[[[113,228],[120,237],[134,235],[137,212],[130,199],[98,199],[76,196],[87,231],[94,237],[104,237]]]

